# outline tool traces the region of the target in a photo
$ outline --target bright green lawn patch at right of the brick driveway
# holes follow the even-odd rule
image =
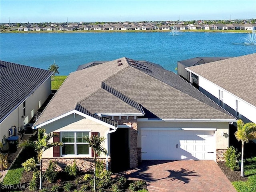
[[[233,186],[238,192],[256,192],[256,157],[246,159],[244,175],[248,180],[232,182]]]

